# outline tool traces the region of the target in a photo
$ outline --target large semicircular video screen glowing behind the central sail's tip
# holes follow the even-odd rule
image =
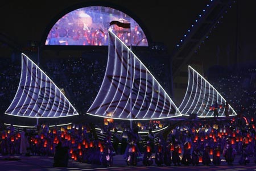
[[[110,22],[130,23],[130,28]],[[104,6],[77,9],[62,16],[51,28],[46,45],[108,45],[108,29],[126,45],[148,46],[142,28],[125,13]]]

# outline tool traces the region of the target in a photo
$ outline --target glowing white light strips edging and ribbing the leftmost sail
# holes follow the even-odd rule
[[[27,57],[24,53],[22,53],[22,56],[25,56],[25,57],[26,57],[26,62],[28,62],[28,61],[31,62],[31,66],[32,66],[32,65],[35,65],[35,66],[36,66],[36,72],[37,72],[37,70],[39,69],[39,71],[41,72],[41,74],[43,73],[43,74],[46,76],[46,78],[49,79],[50,84],[53,84],[53,85],[55,86],[55,88],[56,88],[57,90],[59,90],[60,94],[62,94],[62,95],[64,96],[64,100],[66,99],[66,100],[69,102],[69,100],[67,99],[67,97],[65,97],[65,95],[60,91],[59,87],[57,87],[57,86],[55,85],[55,83],[47,76],[46,73],[43,72],[42,69],[39,68],[38,65],[35,64],[34,61],[32,61],[32,60],[31,60],[29,57]],[[22,60],[23,60],[23,58],[22,58]],[[9,108],[13,105],[13,102],[14,102],[14,100],[15,100],[15,98],[16,98],[16,95],[18,95],[18,91],[21,90],[21,89],[20,89],[20,86],[21,86],[21,84],[22,84],[22,76],[23,76],[23,69],[24,69],[23,67],[24,67],[24,66],[23,66],[23,63],[22,63],[22,71],[21,71],[19,86],[18,86],[18,89],[17,89],[17,91],[16,91],[15,97],[14,97],[13,101],[11,102],[11,105],[8,107],[8,109],[7,109],[6,111],[8,111]],[[26,70],[27,70],[27,68],[26,68]],[[32,78],[32,70],[31,70],[31,78]],[[26,80],[27,80],[27,73],[26,73]],[[42,80],[42,79],[40,79],[40,80]],[[31,82],[30,82],[30,84],[31,84]],[[24,85],[26,85],[26,84],[24,84]],[[24,86],[24,88],[25,88],[25,86]],[[34,89],[35,89],[35,88],[34,88]],[[55,91],[56,91],[56,89],[55,89]],[[22,91],[20,97],[23,97],[23,94],[24,94],[24,89],[23,89],[23,91]],[[26,98],[27,98],[27,97],[26,97]],[[21,98],[19,99],[19,102],[16,103],[15,107],[17,107],[17,106],[19,105],[20,100],[21,100]],[[24,105],[24,102],[25,102],[25,101],[23,101],[23,104],[21,105],[22,107],[23,107],[23,105]],[[65,101],[64,101],[64,102],[65,102]],[[30,105],[30,104],[28,104],[28,105]],[[65,103],[64,103],[64,105],[65,105]],[[14,107],[14,109],[13,109],[12,111],[15,110],[15,107]],[[20,109],[22,109],[22,107],[20,107]],[[19,116],[19,117],[23,117],[23,118],[64,118],[64,117],[68,117],[68,116],[79,115],[79,113],[76,111],[75,107],[73,107],[73,105],[71,104],[71,102],[69,102],[69,109],[70,109],[71,107],[72,107],[72,109],[73,109],[73,114],[72,114],[72,115],[66,115],[66,116],[47,116],[47,117],[42,117],[42,116],[30,116],[31,114],[29,114],[28,116],[24,116],[24,115],[18,115],[18,114],[11,114],[11,113],[7,113],[7,112],[5,112],[5,114],[6,114],[6,115],[12,115],[12,116]],[[34,108],[33,108],[33,109],[34,109]],[[26,110],[27,110],[27,109],[26,109]],[[19,110],[19,111],[20,111],[20,110]],[[57,112],[57,110],[56,110],[56,112]],[[37,115],[37,114],[36,114],[36,115]],[[42,114],[42,115],[43,115],[43,114]]]

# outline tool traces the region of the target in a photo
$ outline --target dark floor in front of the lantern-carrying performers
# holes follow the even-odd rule
[[[86,164],[83,162],[68,161],[68,167],[53,167],[53,157],[48,156],[0,156],[0,170],[4,171],[21,171],[21,170],[256,170],[256,164],[254,163],[253,157],[250,157],[250,163],[247,165],[240,165],[238,163],[240,156],[236,156],[233,166],[229,166],[225,160],[222,159],[220,166],[215,166],[210,164],[210,166],[204,166],[200,164],[199,166],[156,166],[155,162],[151,166],[144,166],[142,162],[138,162],[137,166],[127,166],[122,155],[116,155],[113,159],[113,166],[105,168],[102,165]]]

